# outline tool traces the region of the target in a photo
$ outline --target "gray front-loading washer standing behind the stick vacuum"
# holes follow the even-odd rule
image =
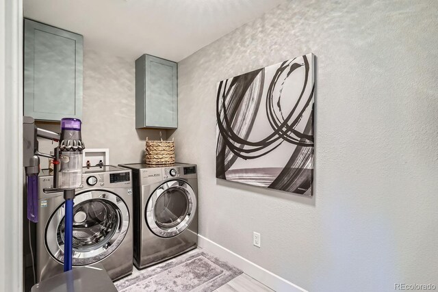
[[[38,177],[36,278],[64,271],[64,194],[53,174]],[[83,168],[73,207],[73,269],[100,263],[112,280],[132,273],[131,170],[112,165]]]

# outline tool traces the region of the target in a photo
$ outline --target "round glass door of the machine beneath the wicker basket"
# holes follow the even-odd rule
[[[160,185],[146,204],[146,223],[159,237],[182,233],[194,218],[196,197],[185,181],[168,181]]]

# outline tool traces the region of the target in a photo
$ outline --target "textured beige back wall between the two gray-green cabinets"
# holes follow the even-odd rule
[[[86,49],[83,54],[82,139],[87,148],[110,148],[110,163],[140,162],[146,137],[158,139],[159,130],[136,130],[134,59],[123,59]],[[38,123],[51,131],[59,124]],[[166,138],[166,130],[163,130]],[[40,150],[53,145],[40,140]],[[41,165],[47,167],[42,158]]]

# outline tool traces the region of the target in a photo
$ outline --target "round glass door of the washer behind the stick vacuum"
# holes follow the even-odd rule
[[[78,194],[73,207],[73,265],[89,265],[109,256],[122,243],[129,227],[127,205],[110,191]],[[64,263],[62,204],[47,224],[44,241],[55,260]]]

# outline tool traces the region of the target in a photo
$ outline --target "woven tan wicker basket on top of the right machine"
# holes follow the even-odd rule
[[[146,154],[144,162],[149,165],[175,163],[175,142],[149,141],[146,137]]]

